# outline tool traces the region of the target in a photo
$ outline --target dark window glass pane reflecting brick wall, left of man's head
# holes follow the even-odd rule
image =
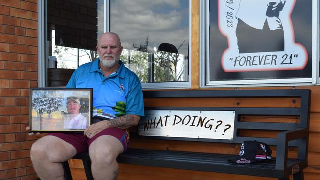
[[[104,0],[47,0],[47,86],[65,86],[74,69],[96,60]]]

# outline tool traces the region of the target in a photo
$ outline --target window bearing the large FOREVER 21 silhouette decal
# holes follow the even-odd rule
[[[316,82],[316,3],[250,2],[202,0],[202,87]]]

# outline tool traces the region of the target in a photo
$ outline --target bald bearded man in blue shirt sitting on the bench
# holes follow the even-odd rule
[[[41,180],[63,180],[61,163],[85,151],[89,151],[95,180],[116,179],[116,158],[128,145],[126,129],[137,125],[144,115],[139,78],[119,60],[122,52],[119,36],[103,33],[97,51],[99,58],[80,66],[66,86],[93,88],[94,124],[83,134],[49,133],[32,145],[31,161]]]

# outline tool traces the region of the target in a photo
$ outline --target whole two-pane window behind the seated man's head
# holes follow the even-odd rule
[[[121,60],[143,88],[190,87],[189,6],[189,0],[39,2],[39,15],[46,17],[39,19],[46,37],[39,39],[45,52],[39,56],[39,87],[64,86],[74,69],[96,60],[97,38],[105,31],[119,34]]]

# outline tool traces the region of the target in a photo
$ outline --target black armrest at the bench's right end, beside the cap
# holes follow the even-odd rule
[[[295,140],[298,147],[298,159],[307,162],[309,130],[299,128],[278,133],[276,169],[286,169],[288,162],[288,143]]]

